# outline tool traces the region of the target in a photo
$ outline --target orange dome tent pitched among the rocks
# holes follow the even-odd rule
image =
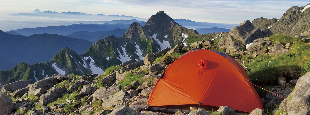
[[[147,110],[175,113],[220,106],[248,113],[263,110],[262,100],[248,82],[249,76],[234,58],[214,50],[192,50],[163,72],[149,95]]]

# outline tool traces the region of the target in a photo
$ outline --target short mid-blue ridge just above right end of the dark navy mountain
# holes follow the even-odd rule
[[[114,35],[115,37],[121,37],[126,31],[127,29],[120,29],[120,28],[110,31],[97,31],[97,32],[80,31],[80,32],[73,32],[72,34],[66,36],[96,42],[100,39],[103,39],[111,35]]]

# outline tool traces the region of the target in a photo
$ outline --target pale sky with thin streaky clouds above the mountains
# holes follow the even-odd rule
[[[281,18],[292,6],[309,0],[0,0],[0,16],[41,11],[126,15],[148,19],[165,11],[172,19],[240,24],[259,17]]]

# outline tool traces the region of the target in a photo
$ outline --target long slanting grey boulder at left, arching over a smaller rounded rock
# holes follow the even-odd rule
[[[48,90],[47,88],[53,87],[55,83],[58,83],[58,80],[54,77],[47,77],[45,79],[42,79],[40,81],[37,81],[36,83],[33,83],[30,87],[29,87],[29,91],[28,91],[28,95],[32,95],[33,91],[36,89],[44,89],[44,90]]]

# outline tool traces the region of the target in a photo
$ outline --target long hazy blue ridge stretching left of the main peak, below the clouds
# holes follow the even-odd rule
[[[118,25],[96,25],[96,24],[73,24],[69,26],[48,26],[48,27],[38,27],[38,28],[23,28],[15,31],[20,33],[23,36],[30,36],[33,34],[42,34],[42,33],[49,33],[49,34],[58,34],[58,35],[68,35],[73,32],[80,32],[80,31],[88,31],[88,32],[97,32],[97,31],[109,31],[116,28],[127,29],[129,28],[130,24],[118,24]],[[8,31],[10,32],[10,31]]]

